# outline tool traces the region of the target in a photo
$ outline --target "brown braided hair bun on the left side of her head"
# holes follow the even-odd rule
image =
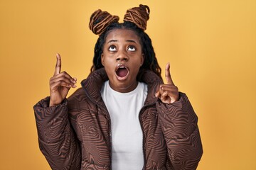
[[[112,16],[107,11],[101,11],[100,9],[98,9],[97,11],[92,13],[92,16],[90,17],[89,28],[90,30],[92,30],[92,33],[100,35],[106,30],[107,26],[109,26],[110,23],[118,21],[118,16]]]

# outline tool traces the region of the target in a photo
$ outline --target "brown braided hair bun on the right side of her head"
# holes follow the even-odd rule
[[[139,7],[130,8],[124,15],[124,21],[135,23],[137,27],[146,30],[146,21],[149,20],[149,6],[140,4]]]

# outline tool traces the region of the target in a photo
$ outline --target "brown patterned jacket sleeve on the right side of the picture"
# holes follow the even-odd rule
[[[169,161],[174,169],[196,169],[203,154],[198,130],[198,117],[186,94],[179,100],[166,104],[158,101],[161,129],[168,147]]]

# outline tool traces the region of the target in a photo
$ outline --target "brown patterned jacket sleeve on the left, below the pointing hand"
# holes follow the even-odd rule
[[[49,107],[49,100],[33,107],[41,152],[52,169],[80,169],[80,146],[68,120],[68,101]]]

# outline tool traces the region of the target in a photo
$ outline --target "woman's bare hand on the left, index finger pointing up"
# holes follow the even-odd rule
[[[61,57],[56,55],[57,62],[55,66],[55,72],[53,77],[50,78],[50,106],[56,106],[60,104],[64,98],[68,95],[68,91],[71,87],[75,88],[77,79],[70,77],[66,72],[60,72],[61,69]]]

